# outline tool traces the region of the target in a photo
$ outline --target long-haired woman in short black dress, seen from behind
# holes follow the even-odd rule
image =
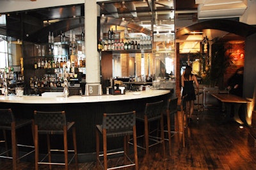
[[[193,83],[195,82],[196,88],[198,91],[199,84],[197,82],[196,76],[192,73],[192,67],[186,66],[185,72],[181,76],[181,86],[182,90],[182,97],[186,96],[186,107],[187,111],[189,111],[189,118],[188,120],[191,121],[191,115],[194,111],[194,100],[196,100],[195,88]]]

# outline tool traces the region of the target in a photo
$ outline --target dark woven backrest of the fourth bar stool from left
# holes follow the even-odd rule
[[[163,100],[146,104],[144,114],[147,116],[148,120],[161,117],[161,112],[163,111],[163,104]]]

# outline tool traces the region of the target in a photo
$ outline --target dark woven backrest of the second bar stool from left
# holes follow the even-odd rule
[[[34,117],[38,130],[63,130],[63,126],[67,125],[65,111],[34,111]]]

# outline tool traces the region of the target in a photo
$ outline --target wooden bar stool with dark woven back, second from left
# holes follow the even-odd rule
[[[67,122],[65,111],[58,112],[42,112],[42,111],[34,111],[35,116],[35,169],[38,169],[38,164],[49,164],[49,169],[51,169],[51,165],[61,165],[65,166],[65,169],[68,169],[68,165],[75,158],[76,168],[78,169],[77,162],[77,147],[76,147],[76,128],[74,126],[75,122]],[[67,133],[72,128],[72,136],[73,136],[73,145],[74,150],[68,150],[68,141],[67,141]],[[38,134],[46,134],[47,135],[47,155],[42,158],[39,162],[39,149],[38,149]],[[50,135],[63,135],[63,148],[64,150],[52,150],[51,149],[51,141]],[[51,151],[62,151],[65,156],[65,163],[61,162],[51,162]],[[68,152],[74,152],[74,155],[68,162]],[[44,162],[45,158],[48,156],[48,162]]]

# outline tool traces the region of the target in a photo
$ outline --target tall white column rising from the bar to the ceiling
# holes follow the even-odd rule
[[[96,0],[84,0],[86,84],[100,84],[100,59],[97,51],[97,6]]]

